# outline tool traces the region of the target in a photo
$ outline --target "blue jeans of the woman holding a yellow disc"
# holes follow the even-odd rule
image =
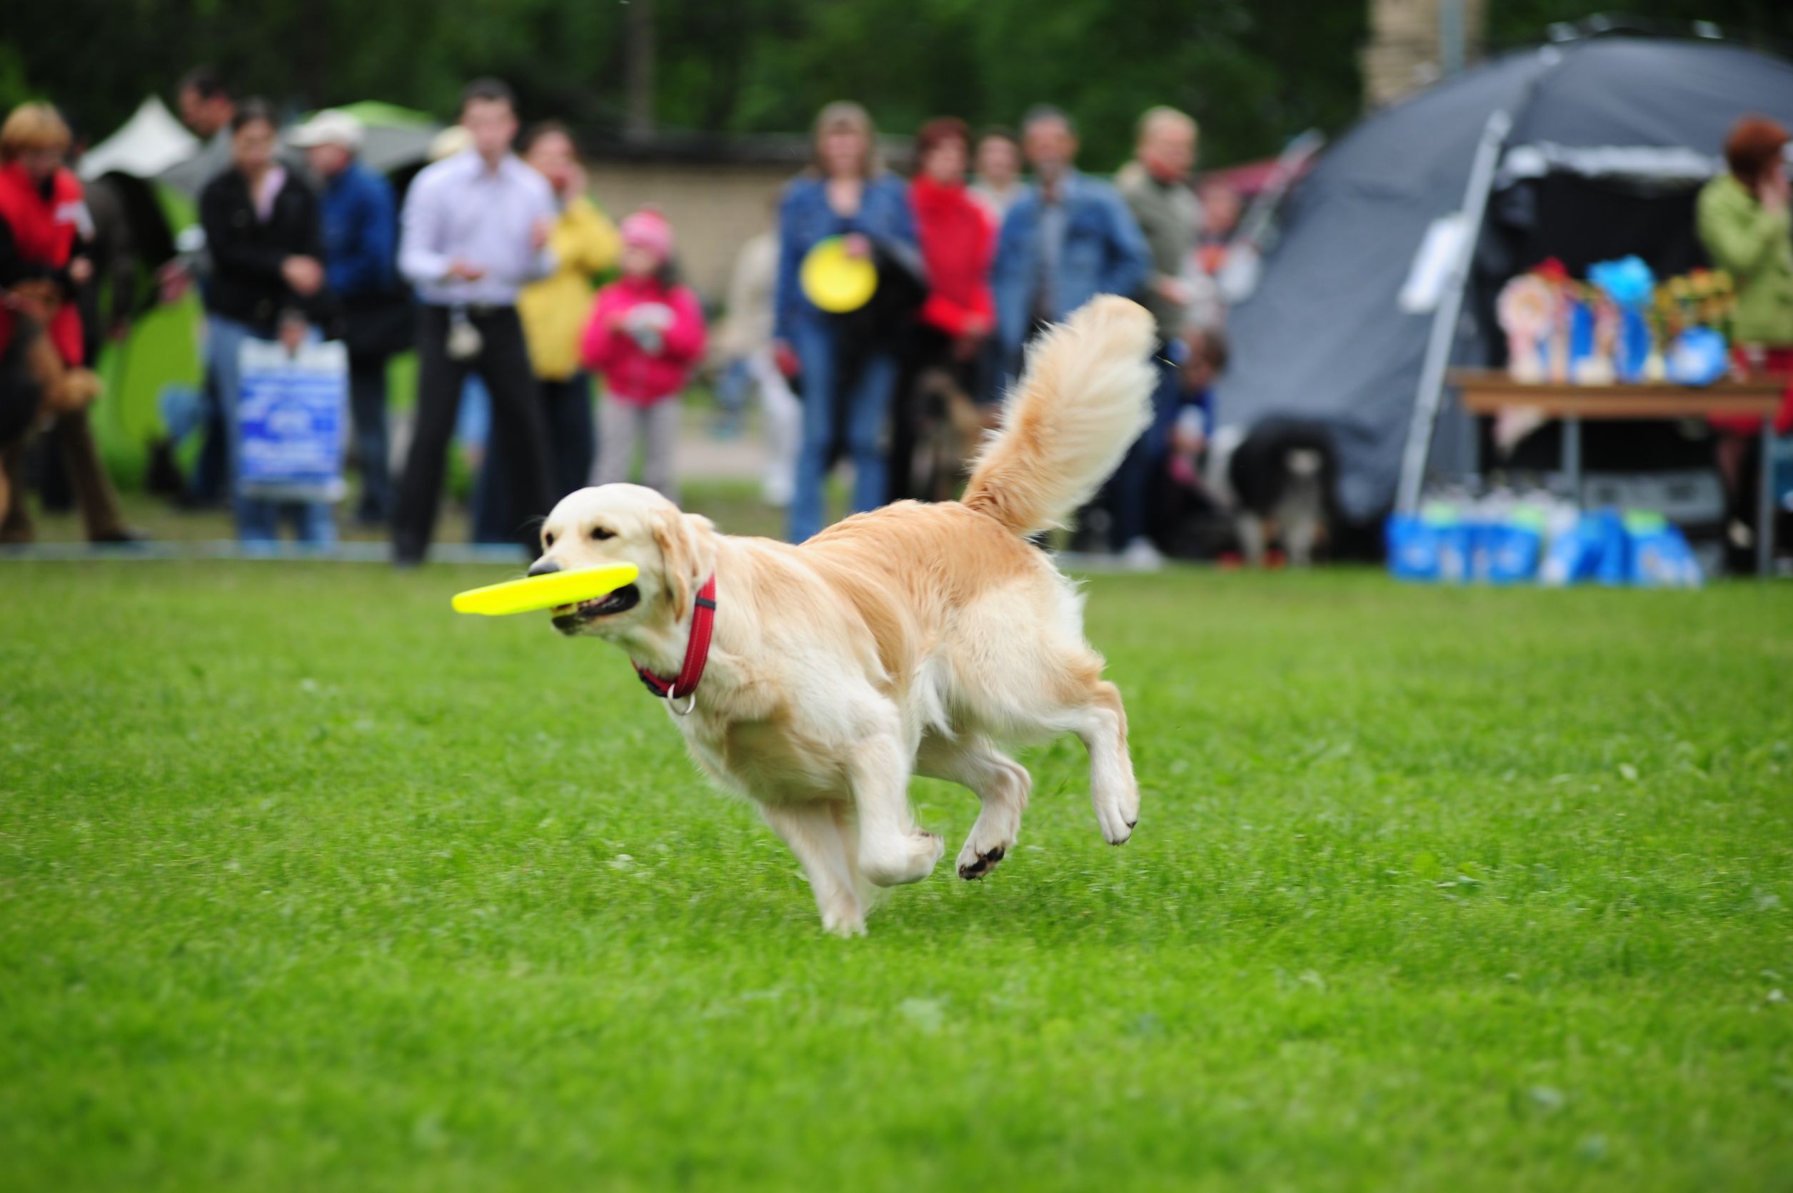
[[[823,483],[834,448],[834,409],[839,377],[839,343],[828,327],[800,327],[793,337],[803,373],[803,448],[796,457],[796,492],[791,497],[791,542],[803,542],[823,524]],[[859,366],[846,393],[846,452],[853,459],[853,513],[877,509],[886,497],[886,425],[896,389],[896,357],[873,352]]]

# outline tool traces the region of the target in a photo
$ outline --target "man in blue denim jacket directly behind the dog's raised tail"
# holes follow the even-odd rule
[[[1151,251],[1115,188],[1076,170],[1078,131],[1063,111],[1038,106],[1022,122],[1033,165],[1027,187],[997,240],[992,285],[997,339],[1009,377],[1033,332],[1058,323],[1096,294],[1135,296],[1151,273]]]

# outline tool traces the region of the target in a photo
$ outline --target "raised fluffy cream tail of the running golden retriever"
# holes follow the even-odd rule
[[[1151,425],[1155,337],[1144,307],[1110,294],[1035,343],[1002,429],[972,466],[965,504],[1031,535],[1094,497]]]

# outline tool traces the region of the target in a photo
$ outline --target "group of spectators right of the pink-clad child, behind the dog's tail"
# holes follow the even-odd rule
[[[1083,511],[1078,545],[1160,562],[1153,515],[1176,504],[1162,488],[1201,488],[1187,463],[1210,432],[1225,361],[1216,276],[1239,213],[1226,190],[1205,212],[1196,145],[1191,117],[1153,108],[1108,183],[1078,170],[1078,127],[1058,108],[1033,108],[1018,133],[945,117],[916,133],[904,179],[864,108],[823,108],[814,165],[785,187],[776,230],[742,251],[723,337],[735,386],[757,386],[767,411],[767,495],[789,497],[793,542],[827,524],[825,481],[843,456],[852,511],[950,497],[1029,341],[1096,294],[1124,294],[1158,321],[1156,418]],[[877,269],[857,310],[805,292],[803,262],[832,239]]]

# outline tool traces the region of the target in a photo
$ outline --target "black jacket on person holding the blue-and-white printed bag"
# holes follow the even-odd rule
[[[212,255],[208,310],[247,323],[260,335],[274,334],[282,310],[316,316],[314,303],[294,294],[280,273],[289,257],[312,257],[319,264],[325,257],[317,196],[296,174],[287,174],[273,213],[262,222],[247,179],[237,169],[224,170],[199,192],[199,222]]]

